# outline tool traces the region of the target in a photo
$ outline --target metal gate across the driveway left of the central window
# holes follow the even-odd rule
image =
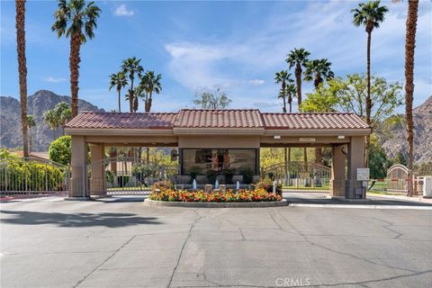
[[[97,172],[102,172],[102,179],[97,181]],[[142,194],[149,193],[150,187],[157,181],[175,180],[178,166],[164,166],[137,157],[108,157],[87,165],[87,191],[98,194]],[[101,183],[102,181],[102,183]],[[98,183],[99,182],[99,183]],[[97,190],[97,191],[96,191]]]

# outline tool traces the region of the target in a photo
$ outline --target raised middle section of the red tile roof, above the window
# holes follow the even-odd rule
[[[183,109],[175,118],[175,128],[263,128],[259,110]]]

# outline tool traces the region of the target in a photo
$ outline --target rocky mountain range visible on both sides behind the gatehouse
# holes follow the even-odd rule
[[[32,128],[32,150],[47,151],[49,143],[59,136],[61,130],[49,130],[43,123],[43,112],[53,109],[57,103],[70,103],[69,96],[61,96],[48,90],[40,90],[28,97],[29,115],[33,115],[36,127]],[[79,100],[78,111],[103,112],[92,103]],[[414,121],[414,159],[415,162],[432,161],[432,96],[413,110]],[[405,125],[394,125],[391,136],[382,139],[383,148],[389,157],[398,152],[407,154]],[[16,148],[22,146],[20,102],[14,97],[0,97],[0,147]]]

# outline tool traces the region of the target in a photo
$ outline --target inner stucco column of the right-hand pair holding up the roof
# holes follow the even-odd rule
[[[344,154],[345,145],[333,145],[331,148],[331,180],[330,195],[332,197],[345,197],[346,162]]]

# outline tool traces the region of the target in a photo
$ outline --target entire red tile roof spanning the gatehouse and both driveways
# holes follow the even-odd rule
[[[180,112],[81,112],[67,122],[77,129],[257,128],[267,130],[368,129],[353,113],[269,113],[257,109]]]

